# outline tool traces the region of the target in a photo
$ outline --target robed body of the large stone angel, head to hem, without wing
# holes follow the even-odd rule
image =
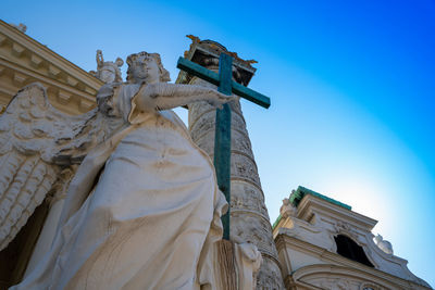
[[[203,249],[222,238],[227,204],[210,159],[170,109],[234,98],[166,84],[157,53],[132,54],[127,64],[128,83],[104,85],[97,96],[96,115],[120,127],[87,153],[50,252],[12,289],[200,287]],[[70,146],[54,160],[73,160],[76,151]]]

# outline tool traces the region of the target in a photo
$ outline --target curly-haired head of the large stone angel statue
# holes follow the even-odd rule
[[[170,73],[163,67],[159,53],[139,52],[127,58],[128,83],[165,83],[170,81]]]

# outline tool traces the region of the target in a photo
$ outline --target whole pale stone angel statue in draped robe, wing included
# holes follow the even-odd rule
[[[0,203],[2,235],[15,235],[11,227],[28,216],[22,213],[32,213],[60,187],[50,172],[86,155],[67,186],[61,216],[53,217],[59,226],[51,225],[53,242],[46,240],[52,244],[46,263],[11,289],[199,289],[211,281],[208,254],[222,239],[225,197],[210,160],[171,109],[198,99],[219,106],[235,98],[167,84],[157,53],[135,53],[126,62],[129,81],[104,85],[98,111],[61,114],[36,84],[0,116],[0,161],[11,165],[0,174],[0,201],[7,201]],[[67,182],[69,176],[60,180]],[[7,245],[10,239],[2,238],[0,245]],[[250,253],[256,257],[256,249],[243,247],[243,264]],[[256,272],[252,266],[244,280],[252,283]]]

